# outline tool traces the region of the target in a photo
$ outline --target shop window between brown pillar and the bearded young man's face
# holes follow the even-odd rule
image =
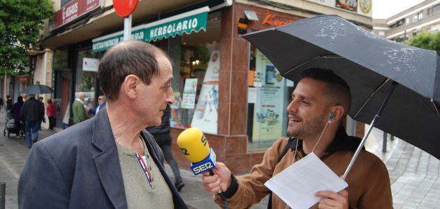
[[[251,47],[248,121],[249,150],[268,148],[286,136],[287,111],[293,82],[281,77],[277,68],[255,47]]]

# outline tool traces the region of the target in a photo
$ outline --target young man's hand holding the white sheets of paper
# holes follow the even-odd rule
[[[347,190],[342,190],[341,192],[332,191],[319,191],[316,192],[316,196],[322,196],[323,199],[319,201],[318,208],[328,209],[328,208],[338,208],[347,209],[349,208],[349,192]]]

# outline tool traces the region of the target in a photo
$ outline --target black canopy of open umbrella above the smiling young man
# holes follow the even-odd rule
[[[402,45],[341,17],[311,17],[244,38],[281,75],[298,82],[307,68],[327,68],[351,88],[349,115],[369,123],[397,82],[375,127],[440,158],[440,59],[437,53]]]

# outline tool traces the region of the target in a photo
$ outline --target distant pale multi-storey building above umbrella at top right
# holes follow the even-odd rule
[[[427,0],[388,19],[373,20],[374,34],[404,42],[420,31],[440,31],[440,1]]]

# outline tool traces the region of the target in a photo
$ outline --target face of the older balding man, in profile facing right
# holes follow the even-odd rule
[[[163,111],[167,104],[174,102],[173,88],[173,68],[166,56],[158,56],[160,75],[154,75],[149,85],[139,86],[141,95],[135,101],[135,109],[141,120],[145,120],[146,126],[161,125]]]

